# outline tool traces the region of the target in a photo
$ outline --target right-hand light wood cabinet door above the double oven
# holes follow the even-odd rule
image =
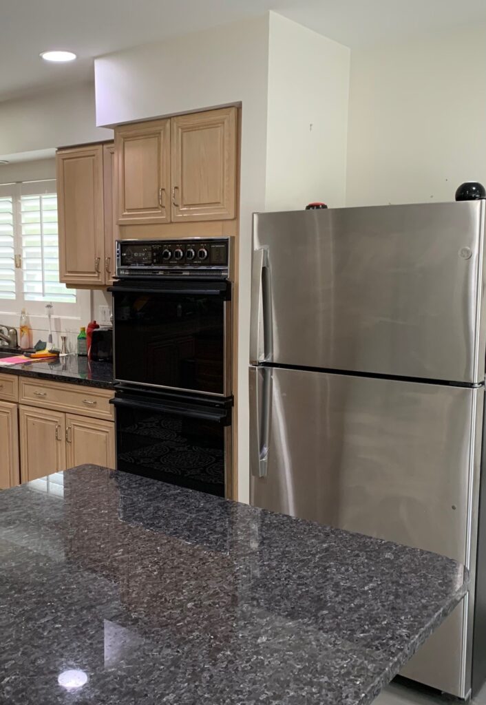
[[[236,214],[236,108],[171,118],[172,220]]]

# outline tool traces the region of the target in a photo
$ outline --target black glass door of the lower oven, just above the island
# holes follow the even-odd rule
[[[159,396],[147,403],[117,393],[116,469],[224,497],[231,407]]]

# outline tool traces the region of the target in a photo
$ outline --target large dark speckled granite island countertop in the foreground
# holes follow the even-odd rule
[[[448,558],[122,472],[59,494],[0,493],[9,705],[366,704],[466,591]]]

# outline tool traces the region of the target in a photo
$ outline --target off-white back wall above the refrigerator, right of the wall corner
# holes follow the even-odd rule
[[[486,185],[486,26],[351,55],[347,204]]]

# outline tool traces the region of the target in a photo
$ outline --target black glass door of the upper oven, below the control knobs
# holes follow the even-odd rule
[[[128,282],[111,291],[117,380],[229,396],[226,282]]]

